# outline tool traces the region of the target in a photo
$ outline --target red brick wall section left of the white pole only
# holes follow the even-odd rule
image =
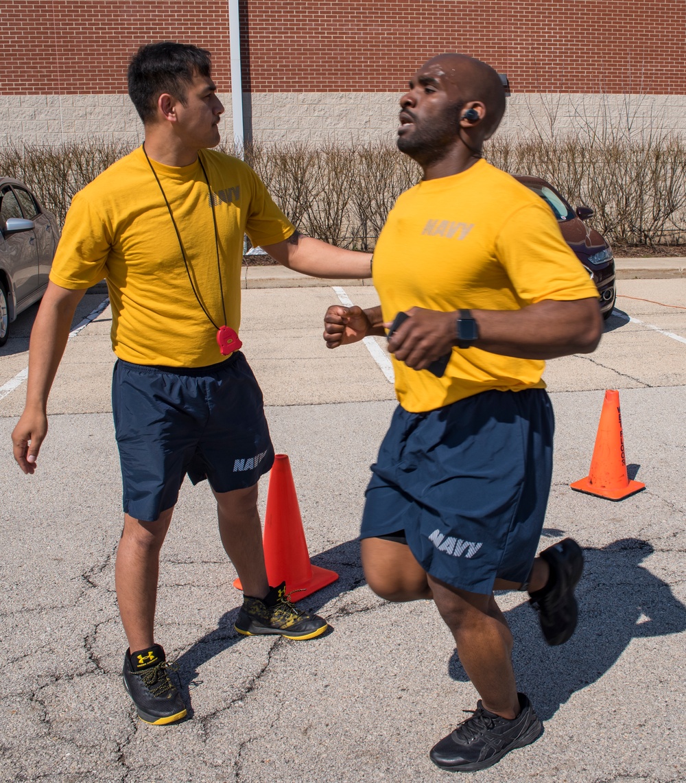
[[[126,92],[139,45],[210,49],[229,92],[229,14],[218,0],[0,0],[0,94]]]

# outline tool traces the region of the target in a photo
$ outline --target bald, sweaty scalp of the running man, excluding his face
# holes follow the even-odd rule
[[[442,72],[444,78],[455,86],[462,102],[483,103],[486,116],[480,130],[482,139],[489,139],[505,114],[505,90],[500,76],[482,60],[455,52],[431,57],[424,63],[424,68],[431,66]]]

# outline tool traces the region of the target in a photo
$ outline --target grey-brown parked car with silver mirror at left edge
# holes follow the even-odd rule
[[[45,294],[59,239],[57,218],[31,190],[0,178],[0,345],[16,316]]]

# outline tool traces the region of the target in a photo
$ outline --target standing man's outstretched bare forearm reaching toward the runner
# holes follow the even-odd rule
[[[344,250],[312,236],[298,234],[263,247],[280,264],[304,275],[348,280],[371,277],[371,253]]]

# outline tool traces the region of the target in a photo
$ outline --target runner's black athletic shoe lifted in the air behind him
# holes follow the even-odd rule
[[[583,552],[574,539],[564,539],[544,549],[540,557],[551,567],[551,578],[543,590],[531,594],[538,612],[543,637],[553,647],[565,644],[576,629],[579,606],[574,589],[583,572]]]

